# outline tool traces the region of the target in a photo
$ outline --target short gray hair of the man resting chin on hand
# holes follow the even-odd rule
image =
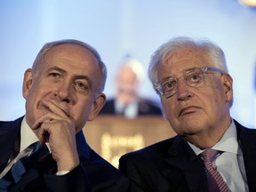
[[[50,52],[53,47],[56,47],[60,44],[76,44],[76,45],[82,46],[85,49],[87,49],[88,51],[92,52],[92,54],[98,60],[99,65],[100,65],[100,72],[101,72],[100,78],[101,79],[100,79],[100,86],[98,88],[98,92],[103,92],[104,88],[105,88],[105,84],[106,84],[106,79],[107,79],[106,65],[101,60],[100,54],[99,54],[99,52],[96,51],[96,49],[94,49],[90,44],[86,44],[84,42],[77,41],[75,39],[63,39],[60,41],[54,41],[54,42],[44,44],[44,46],[42,47],[40,52],[38,52],[38,54],[36,56],[36,60],[34,61],[33,66],[32,66],[32,68],[33,68],[33,70],[35,70],[36,74],[38,74],[40,72],[40,64],[43,63],[45,54],[47,52]]]

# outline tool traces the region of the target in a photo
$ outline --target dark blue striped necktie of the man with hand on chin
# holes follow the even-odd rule
[[[48,148],[45,145],[41,146],[39,142],[33,143],[21,151],[4,169],[6,173],[0,180],[0,191],[7,191],[13,184],[19,182],[24,173],[33,167],[37,156],[39,154],[41,156],[43,153],[49,154]]]

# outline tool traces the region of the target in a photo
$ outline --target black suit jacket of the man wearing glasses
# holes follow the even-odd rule
[[[237,136],[243,150],[250,191],[256,191],[256,130],[236,121]],[[204,164],[180,136],[120,158],[119,169],[132,180],[130,191],[200,192],[207,191]]]

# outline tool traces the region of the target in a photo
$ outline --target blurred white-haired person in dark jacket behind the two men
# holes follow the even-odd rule
[[[126,59],[116,73],[115,98],[107,100],[100,115],[119,115],[127,118],[137,116],[161,116],[161,108],[153,100],[139,94],[145,71],[138,60]]]

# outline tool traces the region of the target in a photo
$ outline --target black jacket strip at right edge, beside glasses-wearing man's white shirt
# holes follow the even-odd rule
[[[244,167],[250,191],[256,191],[256,130],[246,129],[235,121],[237,137],[244,156]]]

